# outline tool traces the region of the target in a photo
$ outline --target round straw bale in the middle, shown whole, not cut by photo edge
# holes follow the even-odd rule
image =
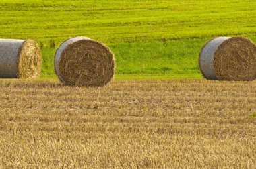
[[[65,40],[55,52],[55,73],[65,85],[104,86],[115,74],[115,58],[101,42],[84,36]]]

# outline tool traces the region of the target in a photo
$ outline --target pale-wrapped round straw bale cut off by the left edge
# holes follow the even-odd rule
[[[36,78],[41,64],[41,50],[34,40],[0,39],[0,78]]]

